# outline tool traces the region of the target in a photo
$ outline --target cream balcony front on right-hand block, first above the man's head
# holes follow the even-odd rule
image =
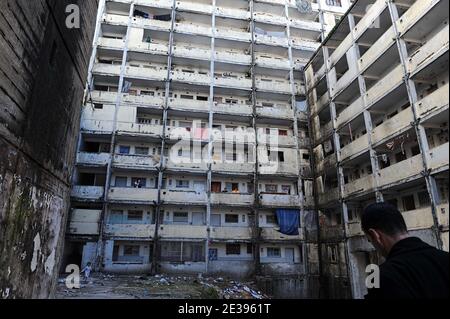
[[[419,154],[380,170],[379,186],[382,187],[415,179],[421,175],[422,171],[423,161],[422,156]]]

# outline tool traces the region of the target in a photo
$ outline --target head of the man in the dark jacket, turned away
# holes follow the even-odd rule
[[[361,226],[369,241],[384,257],[395,243],[409,236],[402,214],[388,203],[367,206],[361,218]]]

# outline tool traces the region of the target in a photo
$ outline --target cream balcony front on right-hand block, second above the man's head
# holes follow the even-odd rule
[[[411,108],[401,111],[372,131],[372,143],[376,144],[409,129],[413,121],[414,116]]]

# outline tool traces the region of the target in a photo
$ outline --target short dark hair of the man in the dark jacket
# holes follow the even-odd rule
[[[367,206],[361,218],[361,226],[364,232],[377,229],[391,236],[408,231],[402,214],[395,206],[388,203]]]

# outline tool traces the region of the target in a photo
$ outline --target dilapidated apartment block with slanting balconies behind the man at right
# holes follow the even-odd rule
[[[360,214],[386,201],[448,251],[448,1],[359,0],[305,69],[330,297],[365,294],[379,256]]]

